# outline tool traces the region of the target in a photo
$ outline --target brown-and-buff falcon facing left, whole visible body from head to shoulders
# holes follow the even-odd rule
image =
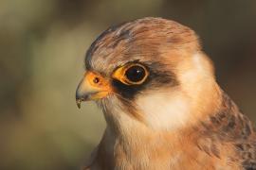
[[[187,26],[148,17],[105,30],[76,92],[88,100],[107,126],[85,169],[256,169],[255,129]]]

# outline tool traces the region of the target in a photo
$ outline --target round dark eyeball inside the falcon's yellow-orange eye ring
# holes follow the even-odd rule
[[[138,82],[142,80],[145,75],[146,74],[144,68],[140,66],[132,66],[125,73],[125,76],[133,82]]]

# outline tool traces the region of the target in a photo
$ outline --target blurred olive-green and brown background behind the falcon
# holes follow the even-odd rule
[[[256,120],[255,0],[1,0],[0,169],[78,169],[105,123],[75,90],[90,43],[144,16],[191,26],[220,85]]]

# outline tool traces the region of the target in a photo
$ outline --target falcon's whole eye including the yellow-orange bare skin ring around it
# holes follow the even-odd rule
[[[118,79],[126,85],[142,84],[148,76],[149,72],[147,68],[139,63],[129,63],[121,66],[112,75],[113,78]]]

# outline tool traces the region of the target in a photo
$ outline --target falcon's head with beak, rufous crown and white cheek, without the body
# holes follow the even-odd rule
[[[174,129],[217,108],[210,59],[187,26],[143,18],[105,30],[87,50],[77,104],[95,100],[108,125]]]

